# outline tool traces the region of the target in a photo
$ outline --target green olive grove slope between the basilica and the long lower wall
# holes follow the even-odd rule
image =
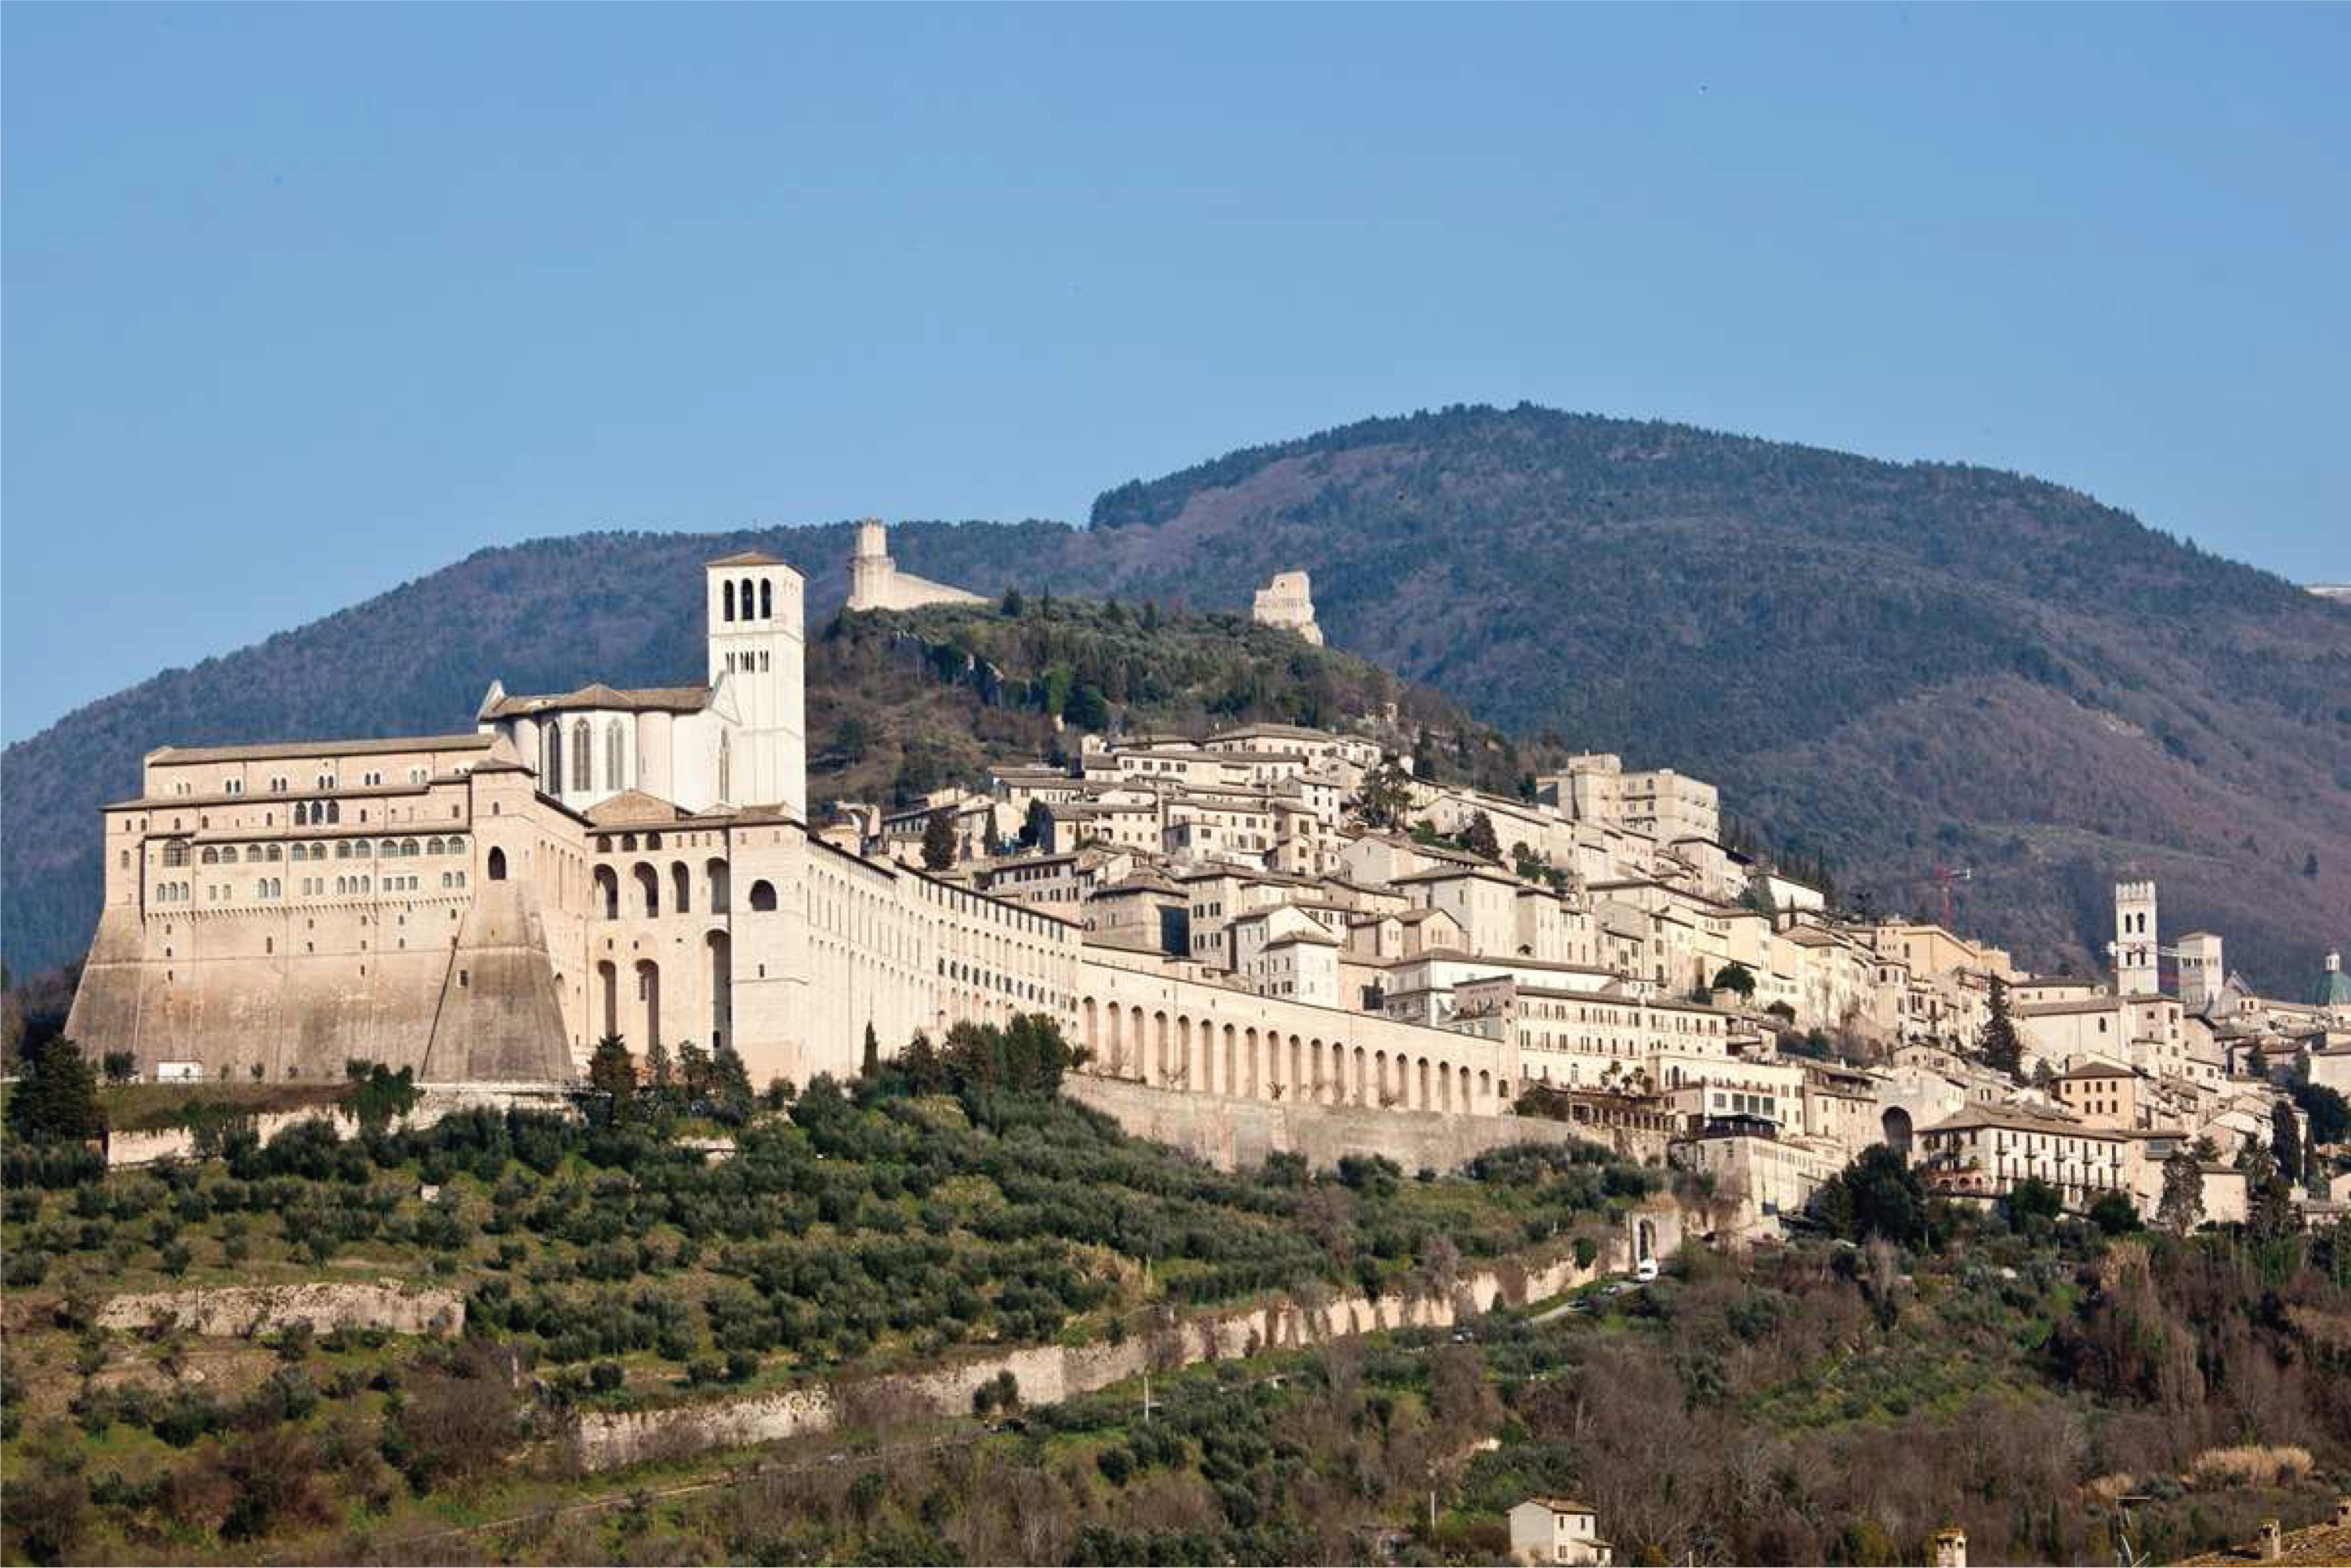
[[[581,1119],[228,1126],[216,1154],[143,1171],[12,1138],[7,1556],[414,1528],[489,1486],[560,1486],[560,1443],[531,1443],[581,1408],[1121,1340],[1270,1291],[1444,1293],[1469,1260],[1603,1232],[1657,1180],[1582,1145],[1455,1178],[1378,1159],[1220,1175],[1058,1098],[1070,1060],[1051,1023],[959,1027],[752,1107],[724,1159],[686,1140],[715,1124],[684,1074],[590,1095]],[[463,1295],[465,1340],[96,1328],[118,1291],[386,1274]]]

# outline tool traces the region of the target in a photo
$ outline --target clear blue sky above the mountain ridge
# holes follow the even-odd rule
[[[0,731],[480,545],[1521,397],[2351,576],[2351,9],[33,7]],[[2191,609],[2191,607],[2184,607]]]

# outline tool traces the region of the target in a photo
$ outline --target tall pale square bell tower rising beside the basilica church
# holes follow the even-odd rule
[[[802,705],[802,576],[745,550],[703,567],[710,684],[726,682],[736,729],[719,743],[715,795],[729,806],[809,816],[809,726]]]

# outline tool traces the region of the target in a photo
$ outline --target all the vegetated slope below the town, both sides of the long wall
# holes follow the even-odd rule
[[[1150,1335],[1258,1291],[1446,1291],[1657,1180],[1535,1145],[1458,1178],[1215,1175],[1056,1098],[1070,1063],[1034,1020],[959,1030],[752,1105],[717,1164],[679,1143],[726,1093],[708,1074],[616,1084],[578,1121],[230,1128],[103,1180],[71,1140],[12,1138],[5,1556],[1476,1563],[1509,1505],[1566,1493],[1622,1561],[1918,1561],[1958,1523],[1984,1561],[2099,1563],[2123,1533],[2161,1559],[2320,1516],[2351,1465],[2342,1225],[1982,1213],[1871,1152],[1820,1229],[1686,1248],[1641,1288],[1164,1366],[1147,1399],[999,1380],[969,1420],[875,1403],[759,1455],[562,1467],[545,1439],[581,1408]],[[101,1272],[397,1272],[463,1291],[468,1335],[101,1333]]]

